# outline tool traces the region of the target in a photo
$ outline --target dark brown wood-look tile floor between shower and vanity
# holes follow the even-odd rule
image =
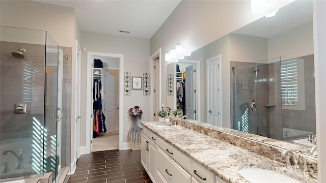
[[[141,163],[141,150],[105,150],[82,155],[68,183],[151,183]]]

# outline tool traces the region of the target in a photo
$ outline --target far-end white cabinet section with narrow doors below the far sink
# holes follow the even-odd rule
[[[143,130],[143,132],[148,131],[146,129]],[[151,177],[153,182],[156,182],[156,160],[157,160],[157,145],[155,140],[157,139],[157,136],[154,134],[151,134],[150,132],[147,133],[150,136],[148,137],[145,135],[145,133],[142,133],[141,135],[141,157],[142,157],[142,165],[144,166],[144,169],[148,173],[148,175]]]

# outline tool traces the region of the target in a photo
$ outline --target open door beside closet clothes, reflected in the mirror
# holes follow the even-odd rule
[[[194,65],[185,68],[185,115],[196,120],[194,75]]]

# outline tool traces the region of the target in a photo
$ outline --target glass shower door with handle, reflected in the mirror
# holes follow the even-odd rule
[[[257,134],[256,72],[248,64],[233,68],[233,129]]]

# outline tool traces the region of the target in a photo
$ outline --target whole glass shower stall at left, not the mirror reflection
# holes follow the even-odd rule
[[[1,26],[0,181],[66,167],[64,53],[45,31]]]

